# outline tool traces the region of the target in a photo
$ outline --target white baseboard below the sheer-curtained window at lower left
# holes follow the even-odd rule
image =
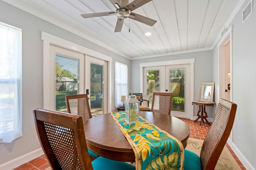
[[[38,148],[22,156],[9,160],[8,162],[4,162],[3,164],[0,164],[0,170],[12,170],[43,154],[44,154],[44,151],[42,150],[42,148]]]

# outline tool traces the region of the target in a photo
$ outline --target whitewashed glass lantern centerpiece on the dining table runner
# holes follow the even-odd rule
[[[139,101],[136,96],[129,96],[125,101],[125,120],[128,124],[140,122]]]

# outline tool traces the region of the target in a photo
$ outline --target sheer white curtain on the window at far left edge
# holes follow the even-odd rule
[[[0,143],[22,136],[22,31],[0,22]]]

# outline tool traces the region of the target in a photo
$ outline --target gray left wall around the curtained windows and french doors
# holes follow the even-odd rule
[[[12,143],[0,144],[0,164],[40,148],[32,109],[43,107],[43,54],[41,31],[112,57],[112,110],[114,111],[114,64],[130,60],[104,49],[56,25],[0,1],[0,21],[22,29],[22,133]],[[129,80],[129,79],[128,79]],[[130,81],[129,81],[130,82]],[[130,86],[129,86],[130,88]]]

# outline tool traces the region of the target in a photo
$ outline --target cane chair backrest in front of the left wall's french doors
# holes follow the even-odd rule
[[[83,122],[92,118],[87,94],[68,95],[65,99],[68,113],[82,116]]]

